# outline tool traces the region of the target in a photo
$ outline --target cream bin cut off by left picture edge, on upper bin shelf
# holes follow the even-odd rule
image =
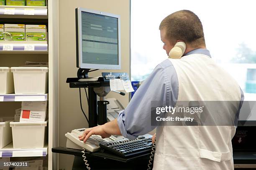
[[[8,94],[14,92],[13,73],[10,67],[0,67],[0,94]]]

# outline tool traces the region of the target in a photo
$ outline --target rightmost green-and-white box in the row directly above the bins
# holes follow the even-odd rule
[[[46,41],[46,25],[26,25],[26,41]]]

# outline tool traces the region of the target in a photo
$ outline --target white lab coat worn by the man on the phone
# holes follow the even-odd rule
[[[237,101],[237,82],[207,55],[171,60],[177,72],[179,101]],[[229,112],[230,110],[226,110]],[[159,126],[154,170],[233,170],[231,139],[235,126]]]

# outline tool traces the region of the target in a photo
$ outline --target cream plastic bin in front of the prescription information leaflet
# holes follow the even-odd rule
[[[44,148],[46,122],[10,122],[13,148]]]

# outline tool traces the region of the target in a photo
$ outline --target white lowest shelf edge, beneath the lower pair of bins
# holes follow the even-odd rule
[[[48,145],[44,148],[25,148],[25,149],[14,149],[13,143],[8,144],[4,148],[0,149],[0,158],[3,157],[42,157],[48,153]]]

